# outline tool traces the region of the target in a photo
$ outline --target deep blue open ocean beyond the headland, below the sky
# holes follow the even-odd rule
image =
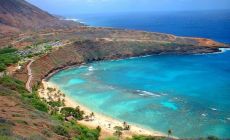
[[[230,11],[148,12],[74,15],[90,26],[162,32],[230,43]]]

